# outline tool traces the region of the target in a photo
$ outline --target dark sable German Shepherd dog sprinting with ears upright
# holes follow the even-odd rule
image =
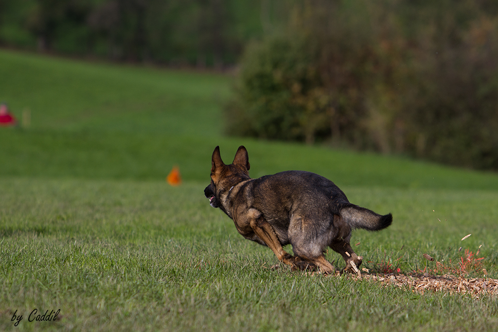
[[[324,256],[329,246],[343,256],[344,271],[359,273],[363,257],[351,248],[351,231],[380,230],[392,222],[391,214],[377,215],[349,203],[341,189],[318,174],[286,171],[251,179],[249,167],[244,146],[230,165],[225,165],[217,146],[204,195],[234,221],[242,236],[267,245],[292,270],[333,273],[334,266]],[[287,244],[295,256],[283,250]]]

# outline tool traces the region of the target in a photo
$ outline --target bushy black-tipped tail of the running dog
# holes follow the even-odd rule
[[[381,216],[369,209],[353,204],[341,209],[341,217],[353,229],[380,230],[392,223],[391,214]]]

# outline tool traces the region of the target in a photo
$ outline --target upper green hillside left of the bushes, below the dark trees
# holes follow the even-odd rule
[[[229,78],[0,51],[0,100],[31,128],[219,134]]]

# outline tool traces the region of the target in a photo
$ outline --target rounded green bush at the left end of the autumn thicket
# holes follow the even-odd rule
[[[293,40],[275,36],[248,47],[238,98],[228,107],[229,133],[309,140],[310,132],[327,129],[326,118],[322,123],[317,120],[323,117],[328,95],[318,75],[316,55],[307,46],[299,36]]]

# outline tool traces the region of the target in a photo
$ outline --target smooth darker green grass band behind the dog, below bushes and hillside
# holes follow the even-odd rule
[[[0,175],[86,179],[162,180],[178,165],[187,181],[209,181],[211,155],[220,145],[232,162],[237,147],[249,151],[250,174],[298,169],[316,172],[343,186],[412,189],[498,188],[498,175],[416,162],[404,157],[331,150],[279,142],[170,134],[2,130]]]

